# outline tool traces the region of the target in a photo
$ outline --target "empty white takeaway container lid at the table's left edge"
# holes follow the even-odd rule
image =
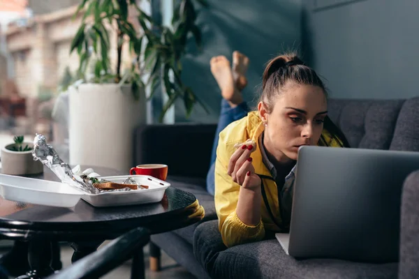
[[[66,183],[0,174],[0,195],[15,202],[73,207],[84,192]]]

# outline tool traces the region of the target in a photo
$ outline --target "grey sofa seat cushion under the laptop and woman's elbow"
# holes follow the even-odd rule
[[[198,225],[193,252],[212,278],[397,278],[397,264],[362,264],[337,259],[296,260],[276,239],[226,249],[218,222]]]

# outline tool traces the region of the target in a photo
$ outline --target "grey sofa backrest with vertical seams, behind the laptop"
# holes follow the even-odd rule
[[[351,147],[419,151],[419,97],[407,100],[330,99],[328,111]]]

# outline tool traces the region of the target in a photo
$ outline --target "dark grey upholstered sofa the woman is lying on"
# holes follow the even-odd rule
[[[330,100],[328,110],[353,148],[419,151],[419,98]],[[176,124],[135,131],[134,163],[167,163],[172,186],[193,193],[205,208],[200,223],[152,236],[152,256],[159,257],[161,248],[197,278],[419,278],[419,172],[405,182],[399,263],[298,261],[275,239],[226,249],[214,197],[205,190],[215,128]]]

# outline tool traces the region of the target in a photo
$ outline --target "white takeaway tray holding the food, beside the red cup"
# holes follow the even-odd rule
[[[149,204],[160,202],[170,183],[161,181],[148,175],[125,175],[125,176],[100,176],[115,183],[122,183],[128,177],[132,177],[137,183],[149,186],[143,190],[114,191],[100,194],[85,194],[82,196],[92,206],[123,206],[133,204]]]

